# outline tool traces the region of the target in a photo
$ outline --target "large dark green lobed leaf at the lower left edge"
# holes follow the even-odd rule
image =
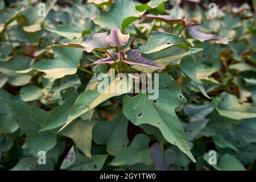
[[[0,98],[0,105],[6,107],[5,113],[10,113],[20,129],[26,134],[27,138],[23,147],[29,150],[32,155],[37,157],[39,151],[47,152],[56,145],[55,133],[52,131],[39,133],[39,129],[47,116],[46,111],[3,98]]]

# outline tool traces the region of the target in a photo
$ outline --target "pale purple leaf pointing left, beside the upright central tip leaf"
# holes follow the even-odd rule
[[[105,38],[108,36],[108,32],[92,33],[86,42],[84,43],[64,43],[53,44],[56,47],[76,47],[83,48],[86,52],[102,51],[105,52],[110,46],[106,42]]]

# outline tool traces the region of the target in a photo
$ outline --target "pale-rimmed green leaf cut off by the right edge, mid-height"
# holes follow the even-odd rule
[[[217,111],[232,119],[246,119],[256,117],[256,107],[254,104],[240,102],[236,96],[228,93],[222,93],[221,101],[218,103]]]

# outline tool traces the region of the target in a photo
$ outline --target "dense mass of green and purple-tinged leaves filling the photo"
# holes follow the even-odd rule
[[[39,3],[0,1],[1,170],[256,168],[255,1]],[[112,69],[158,98],[99,93]]]

